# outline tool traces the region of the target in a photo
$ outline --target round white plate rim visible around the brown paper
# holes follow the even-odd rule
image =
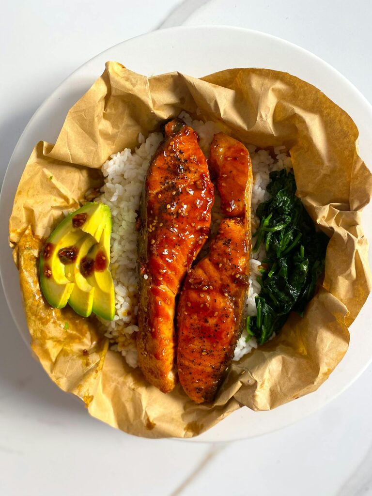
[[[27,343],[29,334],[22,310],[17,270],[5,233],[14,194],[24,165],[41,139],[55,142],[65,115],[103,72],[105,62],[122,62],[146,74],[179,70],[203,76],[232,67],[265,67],[290,72],[320,88],[354,119],[360,131],[360,153],[372,164],[372,107],[359,91],[330,65],[306,50],[257,31],[224,27],[177,27],[125,41],[97,55],[71,74],[41,105],[20,137],[5,175],[0,196],[0,273],[15,323]],[[372,206],[364,227],[372,238]],[[371,252],[370,252],[371,263]],[[268,412],[241,408],[198,441],[227,441],[266,434],[304,418],[348,387],[372,361],[371,297],[350,328],[350,348],[330,378],[314,393]]]

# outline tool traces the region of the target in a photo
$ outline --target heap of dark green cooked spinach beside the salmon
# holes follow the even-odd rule
[[[258,205],[260,225],[253,251],[264,244],[266,258],[257,281],[257,316],[248,317],[248,337],[263,344],[284,325],[289,312],[303,315],[324,267],[328,238],[315,231],[310,215],[296,196],[296,181],[285,169],[270,174],[271,199]]]

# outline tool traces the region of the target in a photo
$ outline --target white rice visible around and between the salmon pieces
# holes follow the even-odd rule
[[[200,147],[208,154],[213,134],[221,129],[213,122],[192,120],[186,113],[180,115],[186,124],[191,125],[199,134]],[[115,284],[116,316],[112,322],[101,320],[105,326],[106,336],[112,341],[112,349],[121,352],[131,367],[137,366],[135,347],[135,332],[138,311],[138,276],[136,271],[137,239],[135,221],[143,181],[156,148],[162,140],[161,133],[150,133],[147,139],[142,134],[138,137],[139,145],[132,152],[126,148],[111,156],[102,166],[105,185],[99,200],[106,203],[112,213],[113,230],[111,235],[111,271]],[[274,149],[275,158],[267,150],[257,150],[254,145],[247,145],[252,159],[253,189],[252,189],[252,232],[258,227],[259,221],[255,216],[258,204],[269,198],[266,186],[269,183],[271,171],[291,168],[292,163],[284,146]],[[218,199],[217,199],[218,200]],[[212,211],[212,235],[218,229],[219,201],[215,202]],[[252,254],[251,276],[248,290],[248,314],[255,315],[254,297],[259,293],[260,286],[256,281],[259,275],[260,260],[265,258],[263,246]],[[247,341],[247,332],[242,333],[235,349],[234,360],[240,360],[244,355],[257,348],[255,338]]]

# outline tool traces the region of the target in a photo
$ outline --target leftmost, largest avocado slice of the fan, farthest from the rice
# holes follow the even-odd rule
[[[79,252],[77,244],[81,242],[82,238],[85,236],[91,237],[93,245],[94,242],[101,240],[102,232],[106,229],[106,226],[111,233],[110,208],[103,203],[89,202],[67,215],[50,235],[40,255],[39,275],[41,290],[52,307],[59,309],[65,307],[72,293],[74,293],[72,296],[72,308],[75,311],[81,308],[81,311],[84,312],[81,314],[89,315],[87,313],[89,310],[88,304],[83,303],[79,307],[77,297],[80,293],[77,290],[73,291],[76,280],[79,282],[76,285],[80,290],[83,290],[84,281],[86,283],[86,280],[81,274],[79,274],[80,278],[79,276],[76,278],[75,274],[75,280],[71,281],[71,278],[66,277],[65,267],[75,265],[74,262]],[[67,269],[67,272],[70,274],[69,269]],[[86,288],[88,287],[89,284]],[[80,313],[80,311],[77,311],[77,313]]]

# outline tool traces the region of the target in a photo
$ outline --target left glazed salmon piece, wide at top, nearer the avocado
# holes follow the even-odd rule
[[[154,154],[140,204],[138,364],[164,393],[177,382],[176,296],[210,228],[214,189],[196,132],[175,119]]]

